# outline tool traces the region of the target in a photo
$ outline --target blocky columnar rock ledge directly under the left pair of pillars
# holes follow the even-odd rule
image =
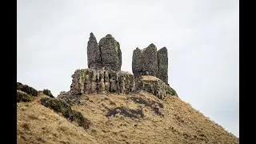
[[[83,69],[72,75],[72,94],[118,93],[134,91],[134,75],[124,71]]]

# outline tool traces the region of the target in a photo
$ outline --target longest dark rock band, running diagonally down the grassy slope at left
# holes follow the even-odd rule
[[[43,106],[54,110],[56,113],[61,113],[70,122],[74,121],[78,123],[78,126],[82,126],[85,129],[89,128],[91,122],[84,118],[80,112],[72,110],[68,103],[56,98],[41,98],[40,101]]]

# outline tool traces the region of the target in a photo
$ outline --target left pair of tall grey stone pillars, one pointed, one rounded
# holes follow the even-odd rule
[[[121,70],[122,52],[119,42],[110,34],[97,42],[94,34],[90,33],[87,43],[87,64],[89,68],[96,70]]]

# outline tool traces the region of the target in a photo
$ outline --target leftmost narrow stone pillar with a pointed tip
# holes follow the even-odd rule
[[[98,42],[93,33],[90,33],[90,38],[87,43],[87,64],[89,68],[102,68],[102,60]]]

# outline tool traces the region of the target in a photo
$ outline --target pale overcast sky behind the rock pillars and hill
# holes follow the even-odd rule
[[[55,96],[87,68],[90,32],[136,47],[166,46],[169,82],[185,102],[239,136],[238,0],[18,0],[17,81]]]

